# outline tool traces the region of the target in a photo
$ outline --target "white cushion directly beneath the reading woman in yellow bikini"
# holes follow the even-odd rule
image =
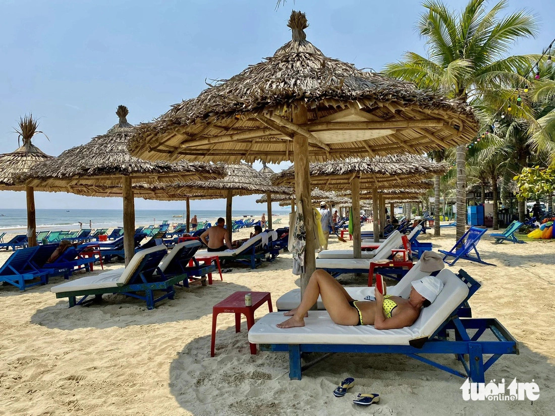
[[[399,329],[376,329],[373,325],[343,326],[331,321],[327,311],[310,311],[301,328],[280,329],[282,312],[269,313],[249,329],[249,342],[255,344],[354,344],[409,345],[412,339],[430,337],[465,300],[468,287],[452,271],[437,275],[445,285],[440,295],[423,308],[416,322]]]

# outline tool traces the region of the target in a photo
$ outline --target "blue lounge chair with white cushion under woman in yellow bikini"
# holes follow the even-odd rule
[[[334,323],[327,311],[310,311],[305,327],[280,329],[276,324],[284,321],[283,313],[273,312],[249,329],[249,342],[260,344],[261,351],[289,352],[290,379],[300,380],[302,369],[307,367],[301,368],[302,353],[347,352],[405,354],[455,376],[484,383],[485,371],[499,357],[519,353],[518,343],[495,318],[458,316],[458,308],[478,290],[480,283],[462,270],[457,276],[444,269],[437,277],[444,284],[443,290],[410,327],[379,330],[373,325],[342,326]],[[447,337],[448,329],[455,331],[455,341]],[[481,341],[486,331],[490,337]],[[420,354],[455,354],[463,372]],[[493,355],[484,361],[484,354]]]

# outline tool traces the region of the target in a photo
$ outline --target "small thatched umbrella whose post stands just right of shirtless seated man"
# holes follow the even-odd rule
[[[225,165],[227,175],[222,179],[208,181],[192,181],[186,184],[171,184],[167,189],[172,187],[175,192],[183,189],[185,192],[198,195],[206,195],[213,198],[225,198],[225,222],[228,226],[229,238],[231,241],[231,229],[233,221],[231,220],[231,204],[234,196],[254,195],[260,192],[270,192],[273,194],[290,194],[291,189],[282,186],[274,186],[271,184],[270,177],[261,174],[252,166],[240,163]],[[271,210],[268,213],[271,218]]]

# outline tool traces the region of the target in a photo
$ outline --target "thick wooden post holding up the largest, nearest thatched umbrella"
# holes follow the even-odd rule
[[[306,105],[299,103],[292,108],[293,123],[306,124],[308,113]],[[293,157],[295,166],[295,196],[297,205],[302,209],[305,221],[305,272],[301,274],[301,296],[309,283],[310,276],[316,270],[316,241],[314,221],[312,221],[312,201],[309,170],[309,139],[301,134],[293,136]],[[316,305],[315,305],[316,306]],[[314,307],[315,307],[314,306]]]

